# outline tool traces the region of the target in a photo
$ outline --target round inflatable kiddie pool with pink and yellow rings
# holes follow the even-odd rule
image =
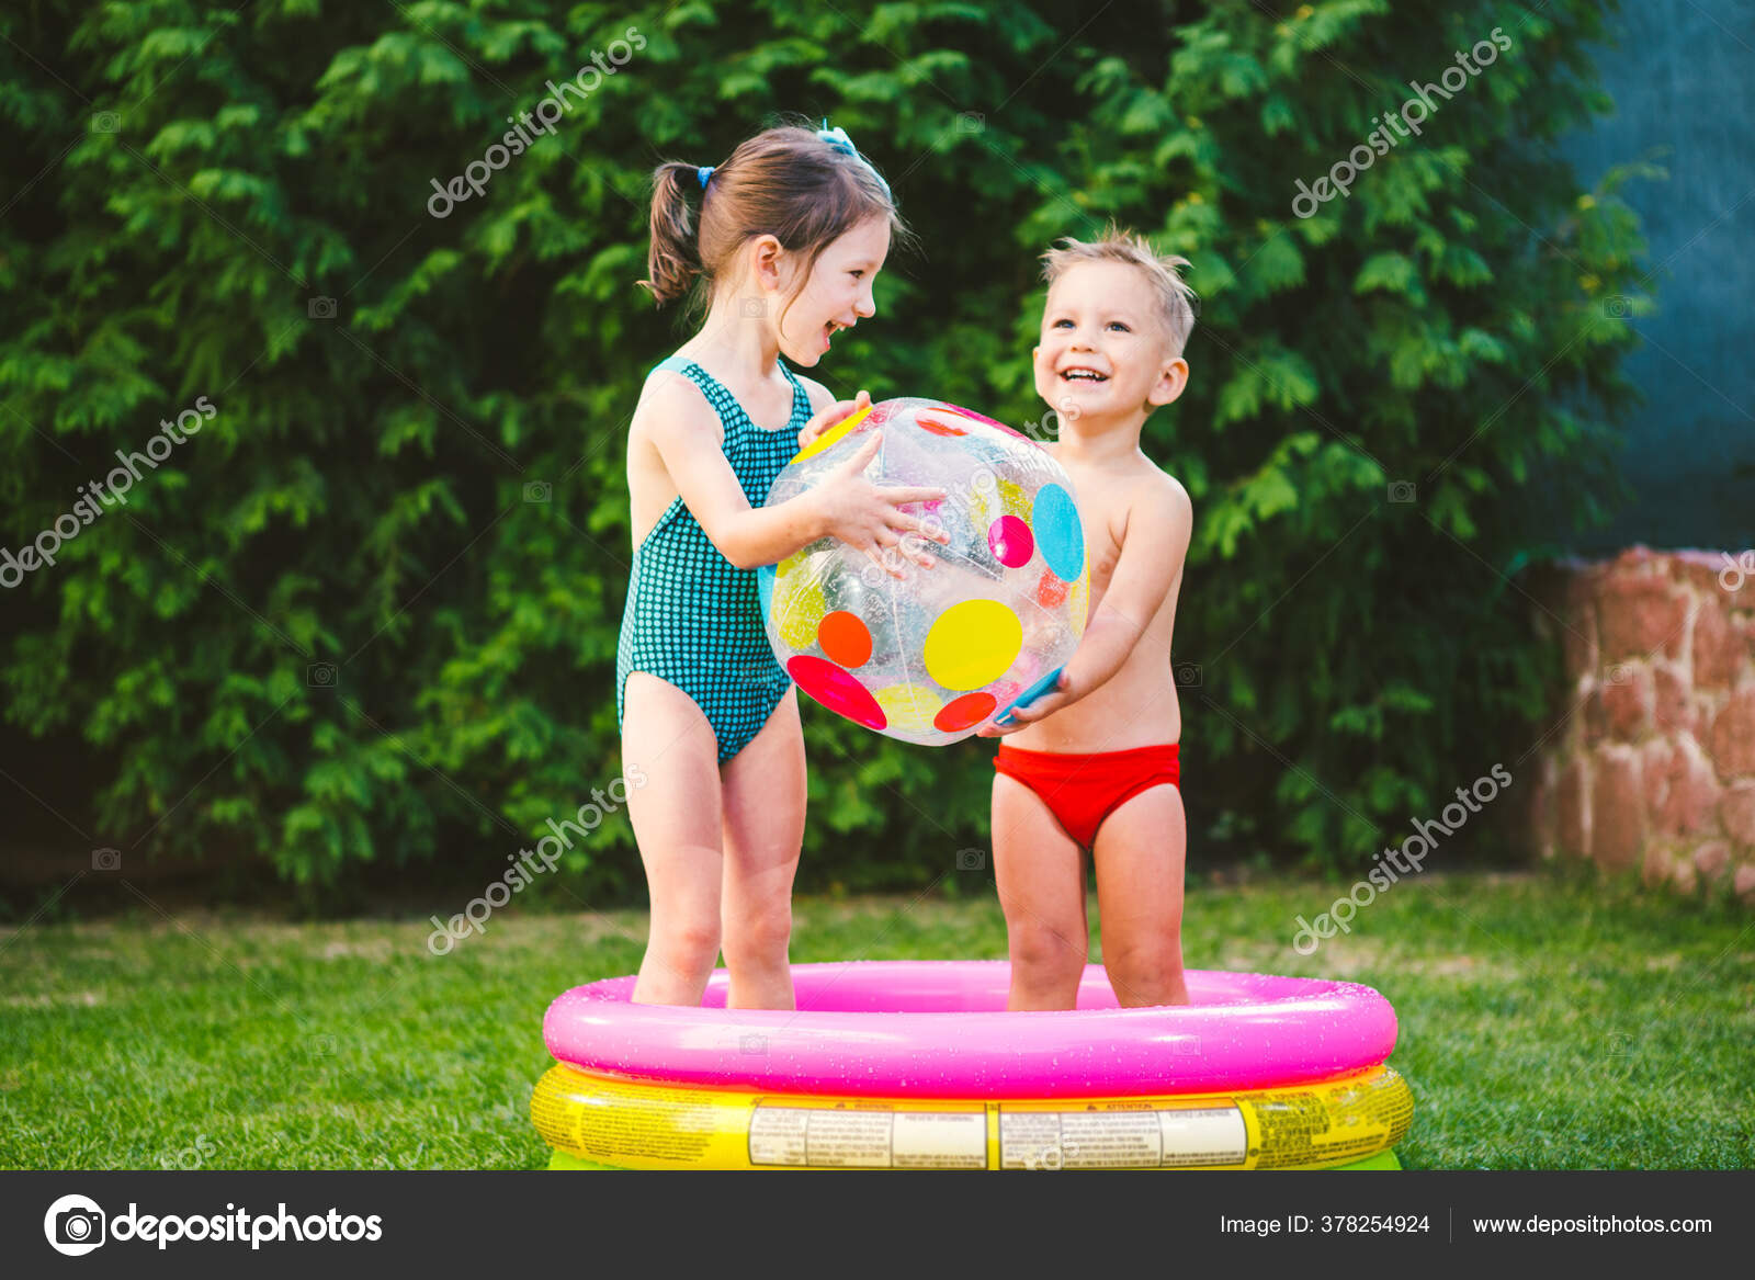
[[[1413,1118],[1369,987],[1190,971],[1192,1004],[1007,1013],[1009,966],[793,966],[797,1011],[560,996],[530,1113],[549,1168],[1397,1168]]]

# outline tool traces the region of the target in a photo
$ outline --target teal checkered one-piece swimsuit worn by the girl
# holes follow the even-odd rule
[[[770,432],[756,427],[700,365],[670,356],[658,369],[683,374],[707,397],[725,428],[725,460],[749,506],[762,506],[781,467],[799,451],[799,432],[811,420],[804,383],[781,363],[792,383],[792,420]],[[627,685],[634,671],[658,676],[695,699],[720,739],[720,764],[762,732],[792,685],[762,627],[755,569],[737,569],[720,555],[681,497],[665,507],[634,551],[616,644],[618,727],[627,715]]]

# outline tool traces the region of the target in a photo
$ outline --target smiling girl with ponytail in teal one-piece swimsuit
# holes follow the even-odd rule
[[[925,527],[900,507],[944,495],[870,485],[872,432],[820,488],[762,507],[800,432],[870,402],[835,402],[779,356],[811,367],[835,330],[876,313],[872,279],[892,228],[906,228],[878,170],[827,121],[765,130],[718,169],[663,163],[653,179],[641,283],[665,304],[698,277],[707,316],[648,376],[628,437],[635,551],[616,713],[623,769],[648,780],[628,816],[651,892],[634,999],[700,1004],[723,946],[730,1008],[790,1010],[804,732],[755,567],[830,536],[930,565],[916,539],[902,544]]]

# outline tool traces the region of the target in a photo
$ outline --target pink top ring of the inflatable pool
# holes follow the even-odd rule
[[[1395,1011],[1371,987],[1188,971],[1186,1006],[1118,1008],[1088,966],[1079,1008],[1007,1013],[1004,960],[797,964],[797,1011],[634,1004],[634,978],[574,987],[542,1039],[598,1075],[772,1092],[1102,1097],[1272,1089],[1383,1062]]]

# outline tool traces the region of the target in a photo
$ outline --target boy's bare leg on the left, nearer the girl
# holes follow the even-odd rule
[[[1041,797],[993,774],[993,878],[1011,953],[1007,1010],[1071,1010],[1090,952],[1085,859]]]

